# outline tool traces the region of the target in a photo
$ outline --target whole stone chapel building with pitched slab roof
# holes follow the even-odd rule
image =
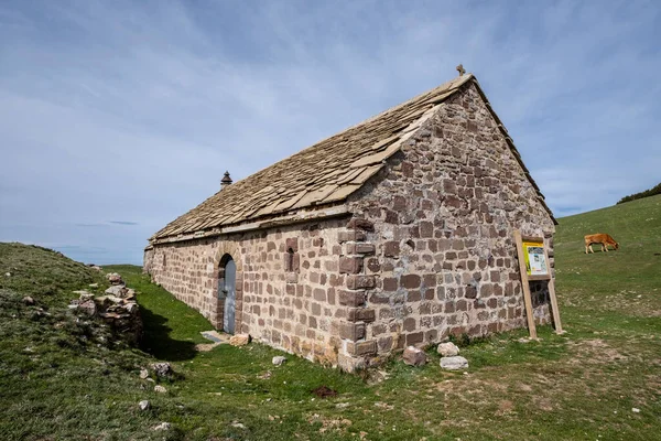
[[[150,238],[145,271],[218,329],[346,370],[524,326],[516,228],[553,267],[556,222],[472,74],[230,183]]]

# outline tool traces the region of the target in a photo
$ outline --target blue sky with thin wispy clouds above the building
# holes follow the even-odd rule
[[[0,241],[140,263],[215,193],[456,75],[556,216],[661,181],[657,1],[3,1]]]

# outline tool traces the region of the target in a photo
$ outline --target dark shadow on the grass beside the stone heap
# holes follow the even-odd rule
[[[154,314],[151,310],[141,306],[143,334],[140,348],[159,359],[166,362],[181,362],[195,357],[195,343],[174,340],[170,336],[172,327],[167,326],[167,319]]]

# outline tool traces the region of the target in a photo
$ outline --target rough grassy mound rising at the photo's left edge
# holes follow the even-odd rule
[[[1,440],[163,439],[151,430],[160,409],[138,409],[156,395],[138,375],[153,359],[67,308],[73,290],[106,287],[99,271],[56,251],[0,244]]]

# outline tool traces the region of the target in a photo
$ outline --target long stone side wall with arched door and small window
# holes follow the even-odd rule
[[[349,306],[343,297],[350,276],[339,259],[340,240],[349,234],[346,224],[347,219],[330,219],[155,245],[150,273],[155,283],[221,327],[218,271],[229,254],[237,263],[237,333],[350,368],[354,352],[347,347],[344,326]]]

